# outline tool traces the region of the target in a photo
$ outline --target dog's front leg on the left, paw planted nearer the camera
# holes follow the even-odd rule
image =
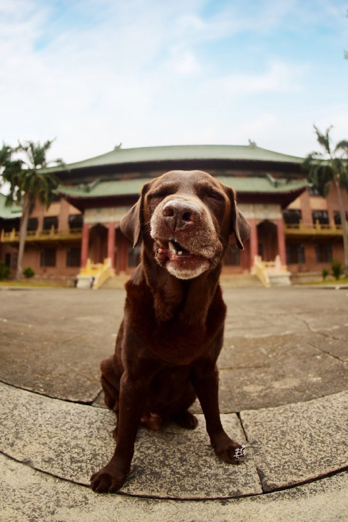
[[[150,376],[136,378],[122,374],[119,392],[117,444],[109,464],[93,473],[91,488],[98,493],[114,493],[122,487],[130,469],[139,422],[150,387]]]

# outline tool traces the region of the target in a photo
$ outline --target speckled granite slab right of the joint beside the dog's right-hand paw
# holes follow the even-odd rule
[[[348,466],[348,391],[241,412],[264,491]]]

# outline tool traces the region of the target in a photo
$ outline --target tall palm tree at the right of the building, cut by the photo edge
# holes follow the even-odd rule
[[[323,152],[311,152],[303,163],[303,169],[307,173],[308,181],[318,189],[322,196],[328,195],[330,182],[333,183],[337,191],[343,231],[344,273],[348,276],[348,229],[342,199],[342,189],[345,188],[348,191],[348,140],[339,141],[332,148],[331,128],[332,126],[326,129],[325,134],[321,134],[314,125],[317,140]]]

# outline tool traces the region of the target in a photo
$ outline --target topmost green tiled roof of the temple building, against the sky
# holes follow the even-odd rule
[[[154,161],[179,160],[242,160],[272,161],[301,164],[303,158],[262,149],[254,143],[249,145],[171,145],[164,147],[139,147],[122,149],[115,147],[111,152],[101,156],[70,163],[68,170],[116,165],[124,163],[142,163]],[[63,168],[52,167],[50,170],[60,171]]]

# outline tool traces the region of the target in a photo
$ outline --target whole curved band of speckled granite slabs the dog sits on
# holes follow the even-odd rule
[[[0,449],[57,477],[82,484],[113,452],[113,414],[0,385]],[[191,432],[171,424],[140,430],[124,493],[172,499],[229,499],[312,480],[348,466],[348,392],[240,414],[249,443],[242,466],[218,461],[205,422]],[[226,431],[243,441],[235,414]],[[258,477],[259,475],[259,477]]]

